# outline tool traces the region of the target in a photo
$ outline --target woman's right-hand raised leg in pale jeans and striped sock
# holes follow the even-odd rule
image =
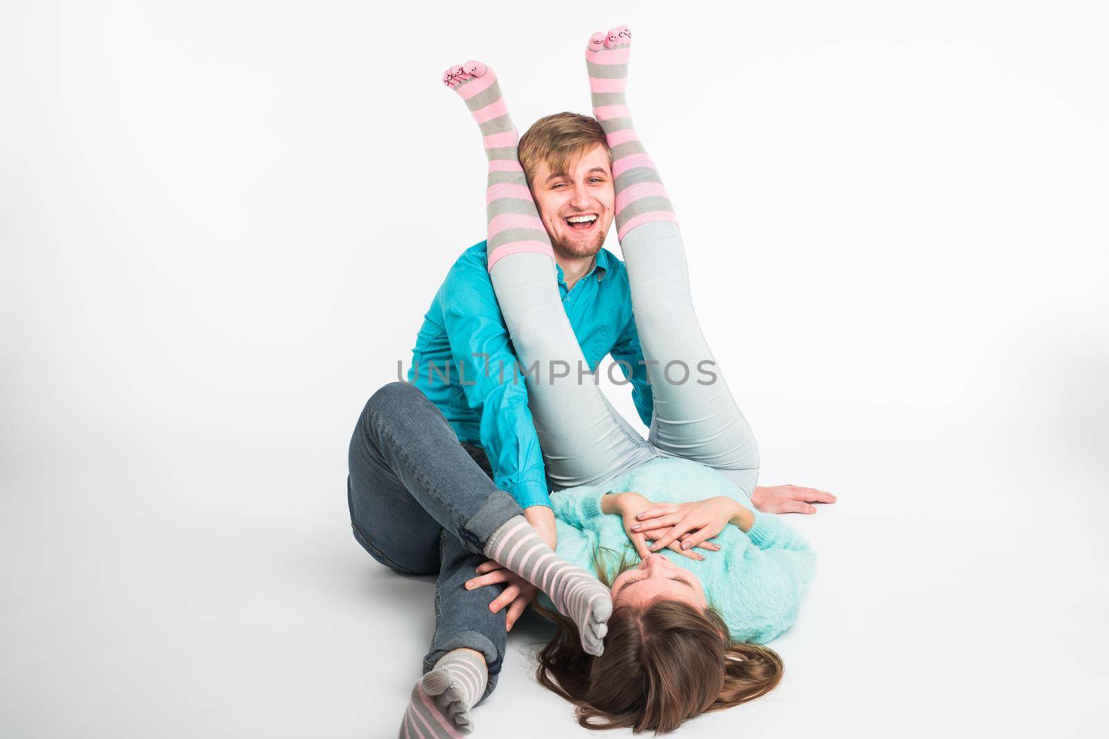
[[[759,448],[704,339],[673,205],[632,127],[628,27],[594,33],[586,50],[593,115],[612,150],[617,235],[654,394],[651,442],[721,470],[750,495]],[[655,363],[657,362],[657,363]]]

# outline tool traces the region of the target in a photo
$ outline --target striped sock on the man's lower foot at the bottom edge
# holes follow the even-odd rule
[[[485,695],[489,671],[472,649],[448,651],[416,682],[399,739],[460,737],[474,731],[470,709]]]

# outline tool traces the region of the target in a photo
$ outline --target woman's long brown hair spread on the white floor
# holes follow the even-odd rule
[[[611,585],[614,575],[606,564],[596,552],[600,579]],[[618,573],[628,566],[625,553]],[[617,608],[600,657],[581,648],[572,620],[537,609],[558,624],[558,634],[539,653],[536,678],[574,704],[578,723],[587,729],[673,731],[699,714],[754,700],[782,679],[777,654],[759,644],[732,642],[712,607],[702,612],[681,601],[660,599],[643,608]]]

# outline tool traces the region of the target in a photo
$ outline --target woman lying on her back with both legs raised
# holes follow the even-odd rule
[[[527,376],[528,398],[548,476],[572,487],[552,495],[558,554],[609,584],[613,598],[600,655],[583,650],[572,622],[556,616],[561,630],[540,655],[539,680],[577,704],[588,728],[669,731],[776,685],[777,656],[747,643],[788,627],[815,558],[788,526],[741,503],[755,484],[757,447],[713,369],[673,207],[631,125],[624,94],[630,40],[627,27],[594,34],[586,59],[594,117],[611,151],[635,325],[648,367],[657,368],[649,440],[596,384],[573,373],[542,376],[554,360],[587,365],[551,279],[549,237],[516,163],[516,131],[486,65],[452,68],[444,81],[467,101],[485,134],[490,279],[517,357],[540,368]],[[691,377],[695,372],[712,379]],[[609,514],[620,514],[622,526]],[[694,554],[695,546],[714,553]],[[658,554],[663,550],[673,561]],[[633,554],[641,557],[635,566]],[[512,579],[495,563],[478,572],[471,586]]]

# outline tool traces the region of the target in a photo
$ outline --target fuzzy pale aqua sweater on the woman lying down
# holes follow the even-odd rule
[[[594,576],[593,551],[600,545],[630,547],[619,514],[601,513],[607,491],[635,491],[652,502],[682,503],[716,495],[752,510],[755,523],[744,533],[729,524],[713,542],[720,552],[701,551],[702,562],[663,550],[663,556],[695,574],[710,605],[728,624],[733,639],[765,644],[797,618],[802,597],[816,572],[816,554],[797,531],[775,515],[755,512],[746,495],[723,474],[690,460],[659,458],[603,485],[581,485],[551,496],[558,527],[558,554]],[[639,556],[631,550],[630,561]],[[547,601],[546,605],[550,605]]]

